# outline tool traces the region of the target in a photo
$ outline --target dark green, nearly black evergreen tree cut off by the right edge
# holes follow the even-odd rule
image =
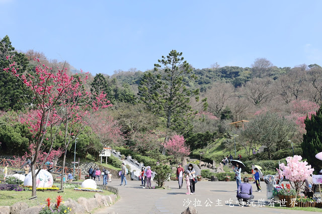
[[[313,167],[322,167],[322,162],[315,158],[315,155],[322,152],[322,113],[321,108],[312,115],[311,119],[306,116],[304,121],[306,134],[303,135],[302,150],[303,156]]]

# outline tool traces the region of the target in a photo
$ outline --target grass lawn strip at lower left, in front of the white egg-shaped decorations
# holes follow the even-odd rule
[[[77,201],[79,197],[91,198],[96,193],[102,195],[113,194],[110,191],[103,190],[104,192],[88,192],[88,191],[75,191],[73,189],[65,189],[64,192],[58,193],[57,191],[37,191],[37,199],[29,200],[31,197],[31,191],[0,191],[0,206],[11,206],[17,202],[26,202],[29,206],[36,206],[39,204],[45,204],[45,199],[50,197],[52,202],[55,202],[55,198],[58,195],[63,197],[63,200],[71,198]]]

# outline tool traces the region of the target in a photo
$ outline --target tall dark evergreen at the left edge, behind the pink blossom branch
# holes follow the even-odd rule
[[[5,36],[0,41],[0,110],[3,111],[21,110],[32,102],[32,94],[24,83],[10,72],[4,71],[4,68],[8,68],[13,62],[16,69],[19,69],[18,74],[21,75],[26,71],[27,57],[23,53],[16,52],[9,37]]]

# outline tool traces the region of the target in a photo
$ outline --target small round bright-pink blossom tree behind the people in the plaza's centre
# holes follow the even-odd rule
[[[185,142],[186,140],[182,135],[174,135],[164,144],[168,154],[173,155],[177,163],[180,163],[183,157],[190,154],[190,148],[186,146]]]

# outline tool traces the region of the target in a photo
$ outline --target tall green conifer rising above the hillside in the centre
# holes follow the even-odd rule
[[[197,77],[191,66],[172,50],[162,56],[160,64],[154,64],[154,72],[146,72],[139,84],[139,95],[151,111],[164,118],[167,128],[184,134],[192,129],[191,120],[196,112],[189,105],[190,98],[199,100],[199,89],[190,90],[187,85]],[[205,100],[203,100],[205,101]],[[166,139],[167,140],[167,139]]]

